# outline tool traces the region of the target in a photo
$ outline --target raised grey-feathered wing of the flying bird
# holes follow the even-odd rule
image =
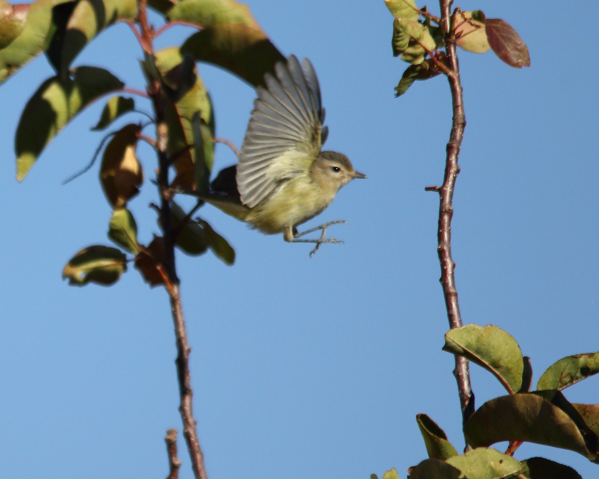
[[[281,181],[310,168],[326,140],[325,110],[314,67],[292,55],[266,74],[258,87],[252,117],[241,145],[237,187],[250,208],[267,198]]]

